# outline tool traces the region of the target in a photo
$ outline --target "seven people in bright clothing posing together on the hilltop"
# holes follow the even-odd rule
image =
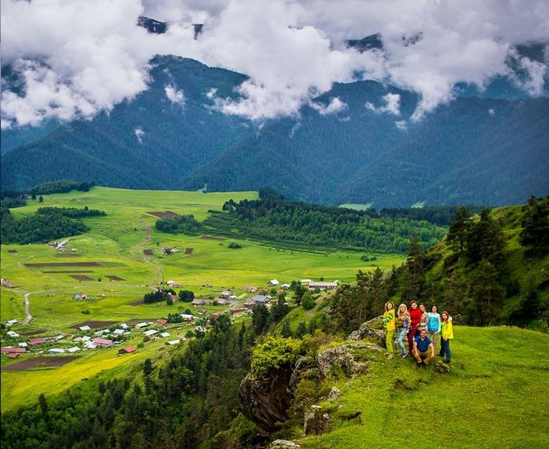
[[[438,314],[438,307],[433,304],[431,311],[426,311],[424,304],[410,302],[410,309],[406,304],[401,304],[396,311],[391,301],[385,303],[383,314],[383,329],[385,331],[385,344],[389,352],[389,358],[394,354],[394,334],[397,332],[397,342],[401,351],[401,357],[406,358],[411,354],[417,362],[417,366],[426,367],[435,358],[438,336],[441,336],[441,349],[438,356],[443,357],[446,363],[450,363],[450,340],[453,339],[452,317],[445,310]],[[408,349],[404,340],[408,340]]]

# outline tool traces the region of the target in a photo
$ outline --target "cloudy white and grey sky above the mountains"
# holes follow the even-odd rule
[[[165,21],[148,33],[139,16]],[[173,54],[245,73],[240,97],[205,92],[224,113],[250,120],[299,115],[304,104],[323,115],[345,103],[314,102],[333,83],[356,79],[391,84],[419,95],[401,115],[400,98],[364,105],[395,116],[397,126],[421,120],[454,98],[456,83],[486,86],[509,76],[514,58],[526,73],[515,83],[543,95],[545,63],[518,56],[519,43],[549,43],[547,0],[4,0],[1,127],[39,125],[56,118],[91,118],[148,88],[150,58]],[[193,24],[204,24],[195,39]],[[383,50],[360,53],[347,39],[381,33]],[[185,86],[166,86],[185,106]]]

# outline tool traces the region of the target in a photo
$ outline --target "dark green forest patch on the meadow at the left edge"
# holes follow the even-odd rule
[[[6,207],[1,208],[0,242],[37,243],[61,237],[83,234],[88,231],[81,217],[105,215],[101,210],[74,207],[40,207],[36,214],[16,220]],[[73,220],[76,219],[76,220]]]

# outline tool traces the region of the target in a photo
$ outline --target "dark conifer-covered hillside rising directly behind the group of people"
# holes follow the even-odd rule
[[[548,236],[549,197],[475,217],[460,207],[442,244],[424,252],[412,239],[406,263],[388,276],[379,269],[359,272],[356,284],[338,289],[331,306],[334,329],[356,329],[377,316],[389,297],[437,304],[460,324],[546,330]]]

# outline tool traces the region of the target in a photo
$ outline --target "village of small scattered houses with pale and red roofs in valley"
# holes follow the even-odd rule
[[[315,282],[312,279],[301,279],[294,284],[301,284],[309,291],[319,292],[326,289],[335,289],[339,281]],[[4,287],[11,287],[7,279],[2,279]],[[165,282],[170,290],[181,287],[179,282],[168,280]],[[211,287],[211,286],[205,286]],[[93,351],[101,349],[119,348],[118,355],[123,356],[143,348],[151,341],[165,340],[166,346],[173,346],[181,342],[193,339],[197,335],[205,334],[210,328],[211,319],[219,316],[229,316],[231,321],[242,319],[244,316],[252,316],[253,309],[263,304],[270,309],[273,298],[286,294],[292,284],[280,284],[277,279],[270,279],[266,287],[245,285],[242,287],[245,294],[237,296],[231,289],[223,289],[213,299],[194,298],[190,302],[180,301],[176,294],[168,294],[171,304],[180,302],[186,306],[183,313],[168,314],[159,319],[131,319],[125,322],[116,321],[85,321],[73,326],[74,334],[58,334],[53,336],[32,336],[26,338],[24,333],[19,334],[11,328],[17,326],[19,321],[11,319],[2,326],[9,329],[5,332],[5,346],[1,346],[1,353],[7,358],[19,358],[21,356],[37,354],[58,356],[61,354],[75,354],[80,351]],[[156,287],[160,290],[160,287]],[[237,299],[247,296],[245,300]],[[211,296],[210,296],[211,297]],[[93,301],[85,293],[74,294],[75,301]],[[209,307],[209,309],[207,308]],[[221,308],[212,311],[213,307]],[[178,308],[181,311],[182,307]],[[19,329],[21,326],[19,326]],[[19,330],[21,332],[21,330]],[[26,333],[29,334],[29,333]],[[34,334],[31,333],[31,334]]]

